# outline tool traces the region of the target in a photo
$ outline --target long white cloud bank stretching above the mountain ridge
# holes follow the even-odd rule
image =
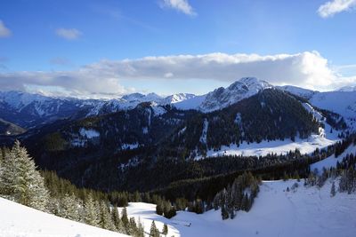
[[[356,83],[356,76],[343,76],[331,69],[317,51],[296,54],[258,55],[209,53],[142,59],[101,60],[73,71],[0,73],[3,90],[26,90],[28,85],[58,87],[72,96],[114,97],[134,91],[126,82],[150,80],[214,80],[232,83],[255,76],[275,85],[291,84],[326,91]],[[353,77],[352,77],[353,76]],[[206,91],[207,92],[207,91]]]

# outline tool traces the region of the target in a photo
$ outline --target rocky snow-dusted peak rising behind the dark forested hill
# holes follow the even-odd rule
[[[198,109],[202,112],[211,112],[229,107],[242,99],[249,98],[259,91],[271,87],[273,86],[270,83],[255,77],[243,77],[227,88],[220,87],[206,95],[184,100],[174,106],[181,109]]]

